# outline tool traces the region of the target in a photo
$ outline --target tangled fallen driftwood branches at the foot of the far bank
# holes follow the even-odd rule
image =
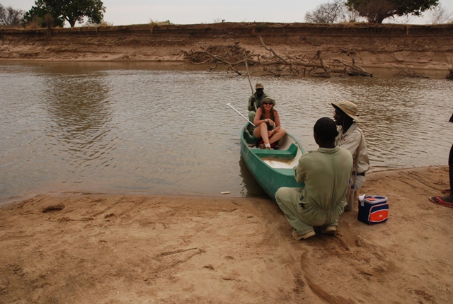
[[[369,76],[364,68],[359,66],[355,60],[355,52],[341,50],[338,54],[345,55],[343,59],[323,59],[319,50],[315,54],[292,54],[284,55],[276,52],[272,47],[265,44],[259,36],[263,48],[270,52],[270,55],[252,54],[250,51],[239,47],[239,42],[233,46],[211,46],[207,50],[183,51],[181,54],[193,62],[193,64],[214,64],[210,71],[217,71],[219,64],[227,66],[226,71],[234,71],[242,75],[236,66],[254,66],[255,71],[273,76],[298,76],[309,75],[316,77],[331,76]],[[248,54],[249,56],[247,56]],[[350,62],[349,62],[350,61]]]

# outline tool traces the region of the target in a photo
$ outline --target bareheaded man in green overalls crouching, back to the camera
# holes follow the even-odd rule
[[[336,233],[338,217],[346,206],[345,194],[352,173],[352,156],[345,148],[336,146],[336,123],[328,117],[314,125],[314,140],[319,149],[304,154],[294,177],[304,182],[303,188],[282,187],[275,193],[278,206],[294,228],[296,240],[315,235],[314,226],[321,233]]]

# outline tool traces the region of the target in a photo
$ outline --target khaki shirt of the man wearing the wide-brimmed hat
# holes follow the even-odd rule
[[[352,160],[354,161],[354,168],[352,170],[355,170],[357,148],[359,148],[360,144],[357,174],[369,170],[367,143],[365,142],[365,136],[363,136],[362,130],[357,127],[357,123],[353,122],[345,134],[343,134],[343,128],[338,127],[338,136],[335,140],[335,144],[341,148],[345,148],[352,154]]]

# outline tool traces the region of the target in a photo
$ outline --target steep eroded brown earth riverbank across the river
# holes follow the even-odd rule
[[[200,64],[209,62],[209,57],[188,54],[208,52],[234,63],[243,60],[246,50],[248,59],[265,65],[282,58],[293,64],[316,61],[315,54],[319,53],[323,64],[333,67],[340,62],[347,66],[354,62],[374,76],[414,76],[411,71],[420,71],[432,78],[445,78],[453,63],[452,37],[451,24],[213,23],[52,30],[0,28],[0,60],[171,62],[183,64],[181,69],[222,70],[229,66],[197,66],[191,60],[196,57]],[[252,74],[268,74],[259,64],[253,66],[250,62],[250,67]],[[243,66],[236,68],[242,70]]]

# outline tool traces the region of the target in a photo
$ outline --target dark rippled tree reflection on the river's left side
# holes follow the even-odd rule
[[[69,157],[76,159],[81,154],[93,157],[105,149],[112,116],[107,94],[108,88],[99,76],[47,78],[42,103],[55,122],[50,124],[52,130],[48,134],[67,147]]]

